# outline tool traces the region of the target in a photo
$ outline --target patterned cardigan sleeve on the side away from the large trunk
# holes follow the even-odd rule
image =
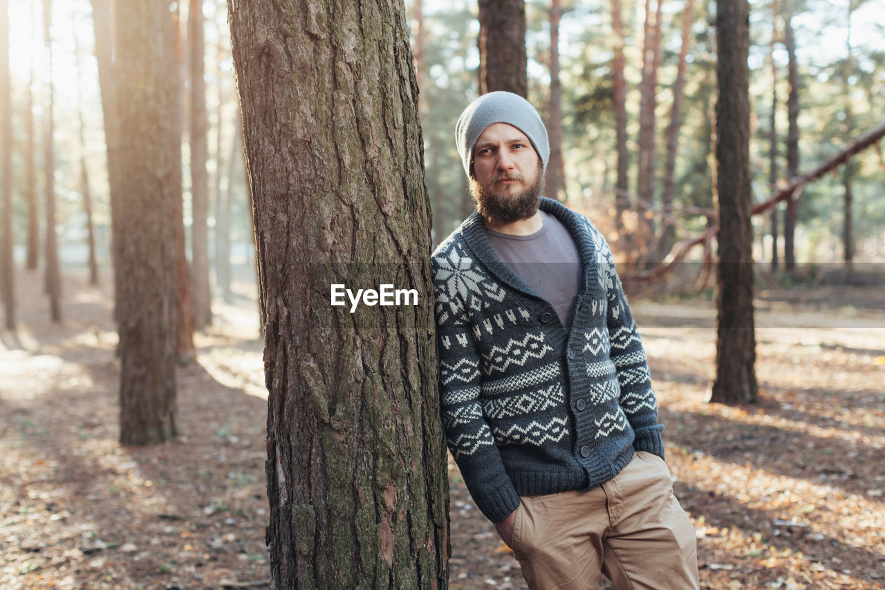
[[[604,241],[603,241],[604,244]],[[618,373],[621,409],[633,427],[637,451],[648,451],[664,458],[664,443],[658,424],[658,401],[651,389],[651,375],[636,322],[630,314],[627,297],[615,269],[612,252],[604,244],[603,260],[608,296],[608,330],[612,343],[612,362]]]

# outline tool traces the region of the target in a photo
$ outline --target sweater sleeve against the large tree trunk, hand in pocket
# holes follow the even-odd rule
[[[454,268],[451,260],[435,259],[433,266],[440,411],[446,441],[476,506],[490,521],[499,523],[519,506],[519,495],[482,413],[480,354],[468,322],[467,293],[459,279],[463,268]]]

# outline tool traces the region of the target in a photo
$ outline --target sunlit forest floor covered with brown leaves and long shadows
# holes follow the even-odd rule
[[[266,391],[248,283],[178,369],[181,438],[118,442],[110,277],[65,275],[61,325],[19,273],[0,333],[0,587],[265,587]],[[757,299],[759,402],[705,403],[710,301],[635,299],[702,587],[885,588],[881,286]],[[450,588],[525,588],[450,470]]]

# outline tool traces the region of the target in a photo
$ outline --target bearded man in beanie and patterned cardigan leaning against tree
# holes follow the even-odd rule
[[[540,198],[547,131],[525,99],[456,127],[477,211],[433,254],[443,424],[473,501],[531,588],[697,588],[658,407],[612,254]]]

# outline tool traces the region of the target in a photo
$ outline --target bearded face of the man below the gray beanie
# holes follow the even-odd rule
[[[473,148],[470,193],[487,221],[528,219],[538,210],[543,185],[541,159],[526,134],[507,123],[482,132]]]

